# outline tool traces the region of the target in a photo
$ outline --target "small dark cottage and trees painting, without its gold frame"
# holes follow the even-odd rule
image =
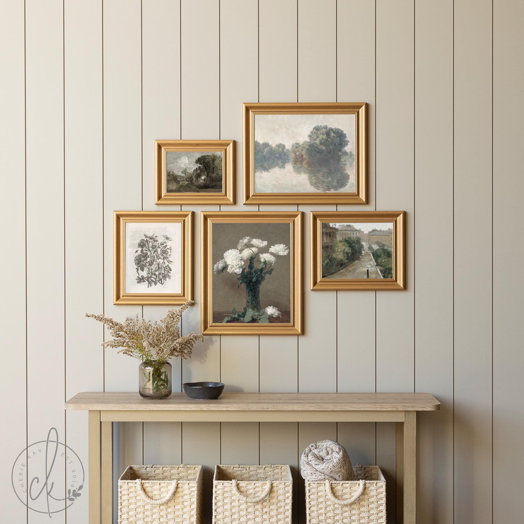
[[[222,151],[167,151],[168,193],[222,193]]]

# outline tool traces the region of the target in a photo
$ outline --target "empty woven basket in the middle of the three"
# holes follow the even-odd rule
[[[215,466],[213,524],[291,524],[289,466]]]

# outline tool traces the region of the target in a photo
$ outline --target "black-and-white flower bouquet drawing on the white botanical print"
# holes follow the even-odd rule
[[[146,235],[138,241],[135,251],[136,281],[138,284],[146,283],[150,288],[153,285],[163,285],[171,278],[171,246],[172,238],[162,235],[159,242],[157,235]]]

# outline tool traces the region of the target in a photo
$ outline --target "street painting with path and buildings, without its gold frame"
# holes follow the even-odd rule
[[[392,222],[322,223],[322,278],[392,277]]]

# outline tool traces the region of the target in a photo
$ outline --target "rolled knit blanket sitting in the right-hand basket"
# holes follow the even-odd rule
[[[347,451],[332,440],[313,442],[302,453],[300,474],[307,481],[356,481]]]

